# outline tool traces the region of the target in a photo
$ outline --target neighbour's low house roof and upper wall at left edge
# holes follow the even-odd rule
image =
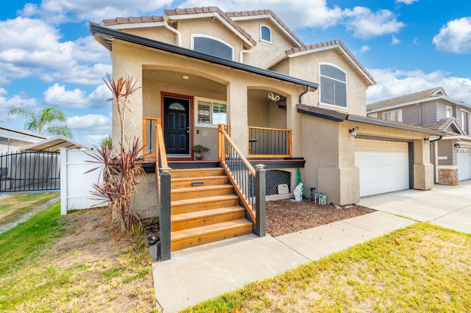
[[[46,137],[28,130],[0,127],[0,153],[8,154],[20,150],[28,144],[44,140]]]

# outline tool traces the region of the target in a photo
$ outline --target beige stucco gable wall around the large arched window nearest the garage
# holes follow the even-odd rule
[[[319,63],[330,63],[339,66],[347,72],[347,106],[333,107],[319,103],[319,93],[312,92],[304,95],[303,103],[321,106],[337,111],[366,116],[366,85],[362,77],[339,55],[335,49],[318,51],[290,58],[290,74],[304,80],[319,82]]]

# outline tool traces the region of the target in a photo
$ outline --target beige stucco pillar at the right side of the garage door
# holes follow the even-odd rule
[[[414,189],[433,188],[433,164],[430,163],[430,144],[414,140]]]

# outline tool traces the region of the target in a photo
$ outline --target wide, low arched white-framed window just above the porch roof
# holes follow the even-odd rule
[[[191,34],[191,48],[211,56],[219,56],[223,59],[234,61],[234,47],[217,37]]]

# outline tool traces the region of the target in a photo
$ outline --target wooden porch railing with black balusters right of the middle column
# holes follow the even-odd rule
[[[247,155],[250,158],[291,158],[291,129],[247,128]]]

